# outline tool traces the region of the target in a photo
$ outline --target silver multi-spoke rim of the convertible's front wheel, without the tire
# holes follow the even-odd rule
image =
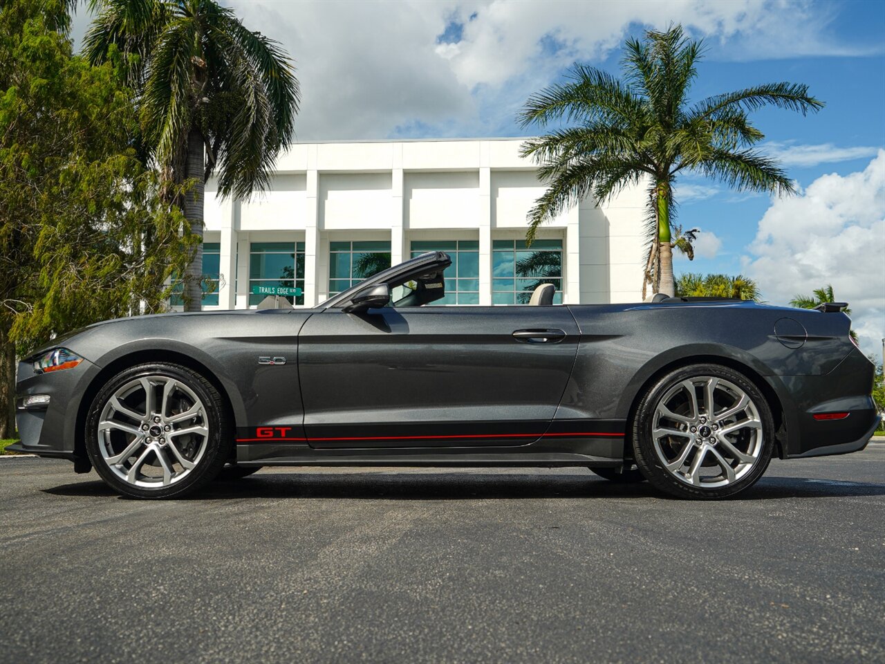
[[[209,441],[203,402],[165,375],[139,376],[114,390],[96,430],[107,467],[132,486],[179,483],[199,464]]]

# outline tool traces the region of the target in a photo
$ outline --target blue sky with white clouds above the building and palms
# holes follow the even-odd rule
[[[301,140],[520,136],[515,114],[574,61],[619,73],[620,44],[681,23],[704,38],[696,98],[802,82],[827,105],[753,116],[800,193],[747,196],[685,177],[700,228],[683,271],[750,274],[784,304],[832,282],[868,352],[885,336],[885,3],[811,0],[222,0],[281,42],[304,93]],[[89,21],[77,15],[79,37]]]

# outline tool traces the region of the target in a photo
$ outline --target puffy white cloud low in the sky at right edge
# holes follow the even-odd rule
[[[850,303],[866,352],[885,336],[885,151],[863,171],[828,174],[797,197],[773,200],[744,257],[774,304],[832,284]]]

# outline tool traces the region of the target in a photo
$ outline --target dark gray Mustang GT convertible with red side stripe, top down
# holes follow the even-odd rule
[[[841,305],[423,306],[427,253],[312,309],[109,320],[19,364],[11,449],[170,498],[263,466],[583,466],[687,498],[856,452],[879,417]]]

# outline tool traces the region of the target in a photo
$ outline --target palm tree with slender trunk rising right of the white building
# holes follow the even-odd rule
[[[576,123],[523,143],[539,165],[547,190],[528,213],[526,239],[537,228],[592,194],[598,203],[628,185],[649,182],[650,251],[645,282],[673,295],[673,184],[694,171],[739,190],[794,193],[793,182],[771,158],[751,147],[765,135],[749,113],[771,104],[814,112],[824,104],[795,83],[766,83],[689,103],[702,42],[681,26],[628,39],[624,80],[595,67],[573,65],[568,81],[529,97],[519,122],[547,127]],[[644,290],[644,286],[643,286]]]

